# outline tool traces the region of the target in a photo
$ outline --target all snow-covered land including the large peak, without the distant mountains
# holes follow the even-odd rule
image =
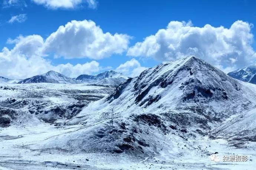
[[[0,128],[0,169],[256,167],[256,85],[187,57],[119,87],[0,85],[0,107],[13,112],[1,113],[12,122]],[[220,162],[210,160],[214,153]]]

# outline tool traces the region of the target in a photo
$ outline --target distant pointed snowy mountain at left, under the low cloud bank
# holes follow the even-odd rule
[[[60,74],[56,71],[48,71],[45,74],[36,75],[18,82],[18,84],[29,84],[29,83],[78,84],[79,82],[63,74]]]

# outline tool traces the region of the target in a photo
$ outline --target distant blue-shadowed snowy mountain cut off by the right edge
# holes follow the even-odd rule
[[[227,75],[252,84],[256,84],[256,64],[248,65],[229,72]]]

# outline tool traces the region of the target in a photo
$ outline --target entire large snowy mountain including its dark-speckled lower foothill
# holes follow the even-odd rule
[[[230,115],[253,108],[255,94],[219,69],[189,56],[123,82],[111,95],[89,103],[66,122],[83,125],[79,130],[42,141],[40,147],[140,159],[207,155],[209,151],[196,148],[193,141]]]

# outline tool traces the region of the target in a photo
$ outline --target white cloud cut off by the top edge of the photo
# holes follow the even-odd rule
[[[32,0],[36,4],[44,5],[47,8],[75,8],[78,5],[87,3],[89,8],[95,9],[98,2],[96,0]]]

